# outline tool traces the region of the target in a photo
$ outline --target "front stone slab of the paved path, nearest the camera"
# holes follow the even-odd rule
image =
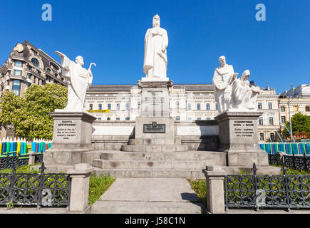
[[[202,214],[204,210],[199,202],[97,201],[91,206],[91,214]],[[148,224],[156,224],[156,219],[150,220]]]

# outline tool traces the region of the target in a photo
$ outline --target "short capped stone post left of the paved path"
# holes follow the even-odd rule
[[[70,212],[84,212],[88,208],[89,176],[93,167],[86,163],[74,165],[67,173],[71,177]]]

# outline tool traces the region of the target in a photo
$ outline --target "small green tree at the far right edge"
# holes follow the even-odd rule
[[[289,122],[286,122],[286,128],[289,128]],[[296,113],[291,117],[291,130],[293,133],[310,132],[310,117],[307,115],[302,115],[301,113]],[[284,135],[290,135],[290,133],[285,129]]]

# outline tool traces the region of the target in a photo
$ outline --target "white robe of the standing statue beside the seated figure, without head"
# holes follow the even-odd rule
[[[217,102],[219,112],[231,108],[230,100],[232,98],[232,78],[234,68],[232,65],[219,66],[215,69],[212,84],[215,90],[215,101]]]

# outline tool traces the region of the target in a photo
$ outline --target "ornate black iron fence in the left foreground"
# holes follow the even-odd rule
[[[44,162],[39,173],[0,173],[0,205],[68,207],[71,180],[67,174],[44,173]]]

